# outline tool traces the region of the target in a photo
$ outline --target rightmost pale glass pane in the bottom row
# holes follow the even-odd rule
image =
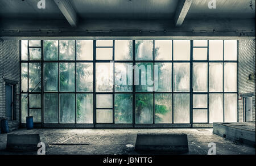
[[[226,93],[224,104],[224,122],[237,122],[237,94]]]

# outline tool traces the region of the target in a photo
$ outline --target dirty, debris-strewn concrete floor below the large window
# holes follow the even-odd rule
[[[189,155],[208,154],[208,144],[211,142],[216,143],[217,155],[255,155],[254,147],[229,141],[213,134],[212,129],[19,129],[11,133],[43,133],[49,143],[47,155],[137,154],[126,148],[126,144],[135,145],[137,133],[187,134]],[[0,155],[36,154],[6,151],[6,138],[7,134],[0,134]]]

